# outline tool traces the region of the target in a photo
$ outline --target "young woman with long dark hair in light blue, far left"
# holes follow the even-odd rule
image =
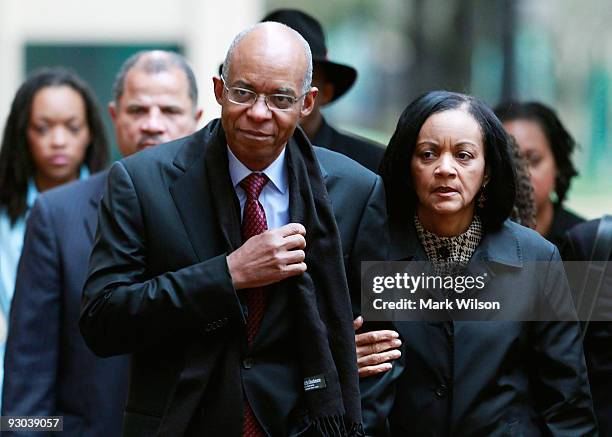
[[[107,161],[106,134],[88,86],[63,68],[32,73],[13,99],[0,148],[0,363],[34,200],[43,191],[102,170]]]

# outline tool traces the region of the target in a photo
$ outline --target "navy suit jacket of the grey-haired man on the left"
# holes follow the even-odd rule
[[[121,432],[128,359],[96,357],[78,329],[106,176],[100,173],[38,197],[11,308],[2,414],[64,416],[66,436]]]

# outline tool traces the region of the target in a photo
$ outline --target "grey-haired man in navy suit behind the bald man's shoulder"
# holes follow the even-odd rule
[[[109,105],[121,154],[193,133],[202,114],[197,100],[193,71],[181,55],[130,57],[117,73]],[[38,197],[9,323],[2,415],[63,416],[66,436],[121,435],[128,356],[96,357],[78,328],[107,177],[101,172]]]

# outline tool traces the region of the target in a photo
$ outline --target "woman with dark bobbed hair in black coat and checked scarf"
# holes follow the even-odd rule
[[[498,321],[396,322],[405,369],[387,399],[394,436],[597,433],[578,323],[524,321],[536,307],[555,308],[556,320],[574,314],[556,247],[508,220],[511,162],[499,120],[462,94],[418,98],[391,138],[381,164],[391,259],[428,260],[445,274],[486,261],[483,292],[514,311]]]

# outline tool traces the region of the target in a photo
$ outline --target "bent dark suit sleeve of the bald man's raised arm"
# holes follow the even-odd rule
[[[156,232],[163,230],[147,229],[132,177],[116,163],[100,206],[80,318],[87,345],[100,356],[189,341],[244,323],[226,256],[152,276],[147,237],[173,238]]]

